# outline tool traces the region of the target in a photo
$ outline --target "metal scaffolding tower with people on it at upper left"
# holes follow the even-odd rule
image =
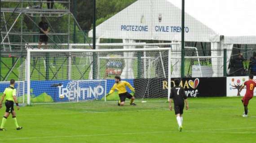
[[[14,67],[20,61],[20,64],[26,59],[26,49],[35,49],[37,46],[30,45],[31,43],[36,42],[36,36],[44,35],[36,32],[36,29],[40,29],[38,23],[36,21],[36,17],[45,17],[46,22],[49,24],[49,28],[51,29],[50,33],[46,34],[51,43],[48,44],[48,49],[71,49],[71,18],[73,18],[74,23],[79,28],[79,30],[83,31],[76,21],[74,15],[71,13],[71,0],[66,1],[57,1],[54,0],[54,4],[63,4],[65,5],[65,9],[48,9],[44,8],[46,3],[50,3],[46,0],[1,0],[1,5],[4,3],[12,3],[15,4],[15,7],[2,8],[0,9],[0,81],[8,80],[10,73],[13,73],[17,78],[18,75],[13,72]],[[9,16],[9,17],[7,17]],[[67,23],[67,32],[61,33],[57,32],[53,25],[50,24],[49,18],[62,18],[64,16],[68,17]],[[24,30],[24,19],[26,18],[26,23],[31,23],[33,25],[33,29],[29,31]],[[13,22],[12,19],[14,19]],[[14,29],[15,25],[18,25],[20,22],[20,29]],[[10,24],[12,23],[12,24]],[[54,24],[55,25],[55,24]],[[84,34],[84,33],[83,33]],[[85,34],[83,35],[86,38]],[[32,37],[32,38],[31,38]],[[62,42],[61,38],[64,39],[65,42]],[[63,38],[64,37],[64,38]],[[18,39],[18,41],[17,41]],[[19,40],[20,39],[20,40]],[[66,40],[65,40],[66,39]],[[31,41],[33,40],[33,41]],[[87,41],[88,42],[88,41]],[[62,43],[67,43],[62,44]],[[88,42],[89,43],[89,42]],[[12,64],[5,63],[1,58],[12,58]],[[46,62],[47,64],[47,62]],[[4,65],[9,71],[2,74],[1,67]],[[69,67],[68,72],[71,71],[71,58],[69,57]],[[49,67],[46,65],[45,67]],[[36,70],[36,69],[35,69]],[[46,69],[45,80],[49,80],[49,69]],[[71,76],[68,75],[68,79]]]

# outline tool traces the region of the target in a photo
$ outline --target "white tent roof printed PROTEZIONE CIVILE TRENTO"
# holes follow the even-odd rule
[[[256,44],[255,6],[256,0],[186,0],[185,41],[219,42],[220,35],[224,35],[225,43]],[[147,25],[148,31],[124,29],[129,25]],[[96,35],[97,38],[181,41],[180,25],[181,0],[138,0],[98,25]]]

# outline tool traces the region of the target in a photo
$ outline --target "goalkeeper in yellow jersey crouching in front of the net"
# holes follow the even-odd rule
[[[120,100],[118,102],[119,106],[124,105],[125,98],[131,99],[130,105],[136,105],[135,103],[133,103],[135,98],[130,93],[128,93],[126,91],[126,86],[128,86],[128,88],[130,88],[132,90],[132,93],[135,92],[135,89],[132,87],[131,84],[129,84],[127,81],[121,81],[120,76],[115,76],[115,84],[111,88],[110,92],[106,95],[106,97],[109,96],[110,94],[114,93],[115,90],[117,90],[118,94],[119,94],[119,98],[120,98]]]

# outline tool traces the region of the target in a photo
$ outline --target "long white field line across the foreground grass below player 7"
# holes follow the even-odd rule
[[[252,129],[252,128],[230,128],[221,130],[236,130],[236,129]],[[254,128],[253,128],[254,129]],[[90,137],[90,136],[111,136],[111,135],[141,135],[141,134],[161,134],[161,133],[178,133],[178,131],[153,131],[153,132],[137,132],[137,133],[119,133],[119,134],[91,134],[91,135],[66,135],[66,136],[45,136],[45,137],[23,137],[9,138],[0,140],[21,140],[21,139],[51,139],[51,138],[74,138],[74,137]],[[256,132],[228,132],[228,131],[204,131],[204,130],[188,130],[187,133],[227,133],[227,134],[256,134]]]

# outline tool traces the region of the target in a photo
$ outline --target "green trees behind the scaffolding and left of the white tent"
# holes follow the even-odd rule
[[[58,0],[58,1],[67,1],[67,0]],[[116,13],[119,13],[124,8],[128,7],[130,4],[134,3],[136,0],[96,0],[96,24],[99,25],[102,22],[106,21],[110,17],[114,16]],[[2,8],[15,8],[18,5],[18,8],[21,7],[21,4],[17,2],[1,2]],[[23,3],[23,7],[38,5],[38,3]],[[42,5],[43,8],[47,8],[46,3]],[[66,3],[55,3],[54,8],[56,9],[67,9],[68,4]],[[80,27],[83,31],[89,31],[92,29],[93,24],[93,0],[71,0],[71,13],[73,13],[78,21]],[[5,13],[5,18],[9,19],[7,23],[8,29],[13,24],[13,21],[18,16],[18,13]],[[3,15],[1,15],[3,18]],[[35,23],[40,22],[40,17],[31,17]],[[68,16],[63,17],[48,17],[47,18],[51,27],[51,32],[55,33],[67,33],[68,32]],[[21,22],[22,20],[22,22]],[[70,21],[70,32],[71,32],[71,42],[73,40],[72,36],[74,35],[74,20],[71,17]],[[17,23],[13,27],[13,32],[21,31],[21,24],[23,32],[37,32],[38,26],[35,25],[27,16],[24,14],[18,19]],[[1,27],[4,25],[4,22],[1,22]],[[54,30],[54,31],[53,31]],[[84,36],[76,28],[76,42],[84,42]],[[31,39],[27,37],[28,39]],[[63,38],[63,42],[66,41],[66,38]],[[19,39],[17,39],[20,41]],[[29,40],[28,40],[29,42]]]

